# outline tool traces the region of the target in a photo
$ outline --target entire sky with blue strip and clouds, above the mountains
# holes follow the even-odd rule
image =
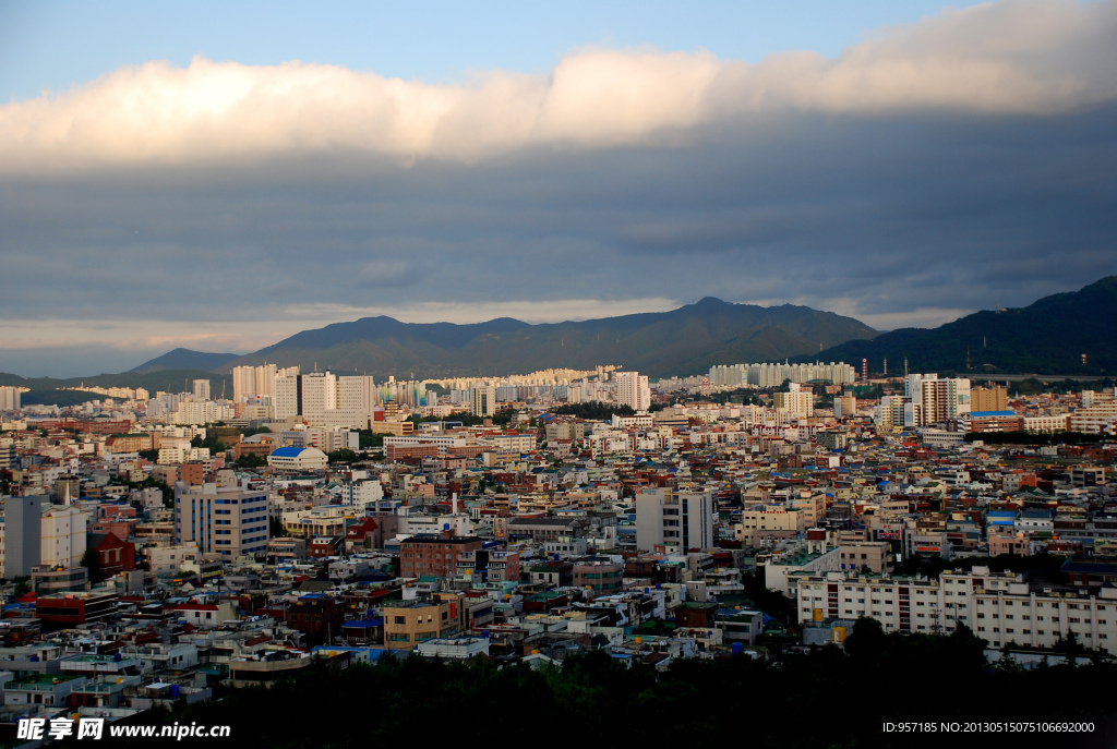
[[[0,372],[1023,306],[1117,272],[1115,39],[1117,0],[0,0]]]

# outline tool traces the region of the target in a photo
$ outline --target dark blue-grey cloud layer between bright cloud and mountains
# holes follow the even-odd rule
[[[1099,28],[1113,28],[1117,6],[1099,8]],[[920,38],[920,54],[970,38],[952,28]],[[895,49],[876,49],[885,63],[851,55],[779,106],[735,104],[674,135],[614,142],[615,123],[590,123],[602,138],[593,147],[527,129],[506,146],[486,135],[484,157],[464,157],[474,146],[442,133],[442,146],[408,159],[337,147],[221,160],[202,148],[188,164],[144,169],[0,169],[0,314],[12,321],[0,371],[6,352],[61,366],[42,353],[59,340],[102,340],[130,365],[191,345],[188,335],[193,347],[246,351],[362,310],[472,319],[478,306],[538,304],[586,317],[596,303],[713,295],[884,327],[1025,305],[1117,272],[1117,98],[1097,70],[1082,74],[1078,98],[1059,87],[1086,63],[1117,71],[1099,33],[1086,33],[1081,59],[1056,45],[1067,59],[1039,76],[1042,90],[1009,76],[1019,106],[993,89],[995,106],[977,106],[984,89],[963,80],[956,96],[904,89],[886,106],[850,84],[848,68],[887,83]],[[999,54],[976,55],[974,75]],[[737,68],[712,65],[691,66],[728,92],[710,100],[755,93]],[[789,66],[748,76],[795,83],[780,73]],[[488,122],[470,112],[466,131]],[[84,325],[67,333],[74,320]],[[74,366],[83,361],[93,364],[75,352]]]

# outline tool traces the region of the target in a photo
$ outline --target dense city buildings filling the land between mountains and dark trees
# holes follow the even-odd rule
[[[841,363],[233,382],[4,411],[0,657],[120,641],[128,679],[204,701],[338,653],[796,657],[866,617],[1117,655],[1110,387]],[[11,716],[57,712],[9,683]],[[150,705],[131,689],[122,717]]]

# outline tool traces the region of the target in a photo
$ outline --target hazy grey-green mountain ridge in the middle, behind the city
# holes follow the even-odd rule
[[[376,378],[438,378],[615,364],[668,377],[725,362],[784,359],[876,335],[851,317],[810,307],[758,307],[707,297],[666,313],[540,325],[507,317],[470,325],[366,317],[304,330],[217,369],[274,363],[297,364],[304,372],[317,367]]]

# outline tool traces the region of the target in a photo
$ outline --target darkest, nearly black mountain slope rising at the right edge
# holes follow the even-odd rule
[[[1100,375],[1117,372],[1117,276],[1018,309],[983,310],[937,328],[901,328],[848,340],[815,357],[879,373]],[[1086,361],[1082,356],[1086,355]]]

